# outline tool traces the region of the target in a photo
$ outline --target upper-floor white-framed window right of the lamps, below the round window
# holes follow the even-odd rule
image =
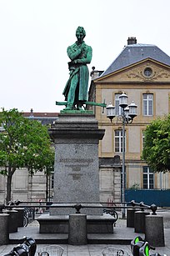
[[[153,94],[143,94],[143,116],[153,116]]]

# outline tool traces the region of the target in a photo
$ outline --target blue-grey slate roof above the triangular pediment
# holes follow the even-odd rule
[[[100,78],[147,58],[170,66],[170,57],[156,45],[134,43],[123,48],[122,53],[120,53],[107,70],[102,73]]]

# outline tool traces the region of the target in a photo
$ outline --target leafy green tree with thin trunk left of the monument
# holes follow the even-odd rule
[[[13,173],[28,168],[31,175],[53,166],[54,150],[47,127],[24,118],[18,109],[0,113],[0,173],[7,176],[6,203],[11,200]]]

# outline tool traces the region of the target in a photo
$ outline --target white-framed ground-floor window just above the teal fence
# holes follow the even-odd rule
[[[143,166],[143,188],[153,189],[153,171],[148,166]]]

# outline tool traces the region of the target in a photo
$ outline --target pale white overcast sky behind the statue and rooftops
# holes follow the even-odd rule
[[[106,70],[128,37],[170,56],[169,0],[0,0],[0,107],[58,112],[67,83],[67,46],[86,30],[92,63]]]

